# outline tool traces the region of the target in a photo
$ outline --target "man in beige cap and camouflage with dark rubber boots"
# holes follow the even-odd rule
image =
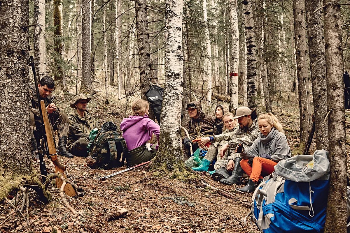
[[[257,114],[248,107],[239,107],[236,110],[237,123],[239,127],[236,127],[232,135],[232,139],[224,144],[220,150],[220,155],[223,156],[230,148],[229,156],[227,160],[218,160],[212,174],[212,178],[215,181],[220,181],[223,184],[232,185],[238,182],[238,178],[241,177],[243,170],[240,167],[241,157],[235,153],[236,146],[240,143],[247,147],[253,144],[253,141],[259,136],[259,126],[257,121]]]

